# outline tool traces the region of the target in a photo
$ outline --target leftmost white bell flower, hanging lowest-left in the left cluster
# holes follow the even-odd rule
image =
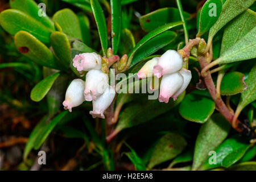
[[[77,107],[85,101],[84,99],[85,82],[81,79],[75,79],[69,84],[65,95],[63,106],[65,110],[72,111],[72,107]]]

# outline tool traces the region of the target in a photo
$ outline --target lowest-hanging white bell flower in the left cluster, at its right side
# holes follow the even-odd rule
[[[112,86],[108,86],[105,92],[93,101],[93,110],[90,111],[93,118],[105,118],[104,111],[108,109],[115,97],[115,89]]]

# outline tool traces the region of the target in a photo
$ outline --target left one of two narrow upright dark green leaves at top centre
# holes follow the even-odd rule
[[[93,15],[98,27],[98,34],[100,35],[101,39],[102,51],[104,56],[106,56],[106,51],[108,49],[108,31],[106,27],[106,19],[98,0],[90,0],[90,5],[92,6]]]

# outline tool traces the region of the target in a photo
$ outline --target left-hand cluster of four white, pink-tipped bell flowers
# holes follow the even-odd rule
[[[72,107],[84,101],[92,101],[93,118],[105,118],[104,111],[110,106],[115,97],[115,89],[109,85],[109,77],[101,71],[101,56],[97,53],[81,53],[73,59],[77,71],[88,71],[85,81],[75,79],[69,84],[63,102],[64,109],[72,111]]]

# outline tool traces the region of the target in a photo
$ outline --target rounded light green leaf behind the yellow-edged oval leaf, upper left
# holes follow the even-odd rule
[[[82,34],[77,15],[70,9],[57,11],[53,17],[53,22],[59,23],[63,32],[71,38],[82,40]]]

